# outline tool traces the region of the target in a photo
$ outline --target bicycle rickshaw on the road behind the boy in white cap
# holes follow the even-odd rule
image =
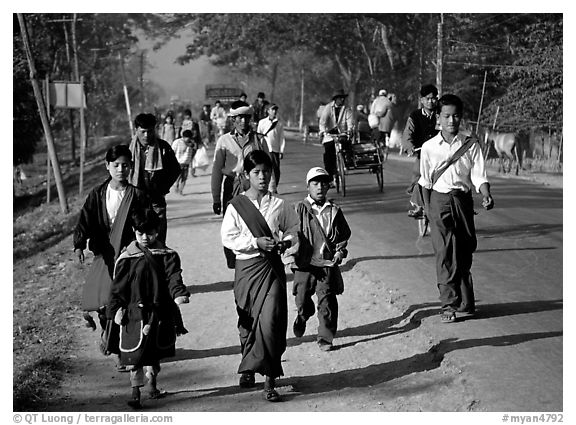
[[[338,134],[336,138],[337,171],[335,175],[336,191],[346,196],[346,179],[353,171],[368,170],[376,175],[380,192],[384,191],[383,164],[386,161],[386,151],[372,138],[370,128],[359,127],[350,138],[346,133]]]

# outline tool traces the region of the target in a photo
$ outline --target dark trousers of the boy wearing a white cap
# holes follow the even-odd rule
[[[312,295],[318,298],[317,340],[332,342],[338,329],[337,294],[342,293],[338,282],[342,281],[338,267],[314,267],[294,271],[293,295],[298,315],[308,320],[315,313]],[[340,277],[340,279],[338,279]]]

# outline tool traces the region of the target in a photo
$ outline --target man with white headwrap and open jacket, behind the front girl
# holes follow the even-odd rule
[[[243,168],[245,156],[254,150],[268,154],[268,145],[252,131],[252,108],[237,100],[232,103],[229,115],[234,129],[216,141],[212,165],[212,210],[218,215],[226,213],[230,200],[249,187]],[[234,254],[226,247],[224,254],[228,268],[233,269]]]

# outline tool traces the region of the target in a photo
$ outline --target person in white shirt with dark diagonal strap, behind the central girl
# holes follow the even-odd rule
[[[270,192],[278,193],[280,184],[280,160],[284,158],[286,140],[284,139],[284,126],[278,119],[278,105],[268,105],[268,116],[258,123],[258,134],[264,137],[268,144],[268,152],[272,159],[272,178],[270,179]]]

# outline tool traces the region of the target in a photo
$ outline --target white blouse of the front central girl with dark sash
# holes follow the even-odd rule
[[[262,198],[260,205],[256,199],[250,199],[250,201],[264,216],[276,241],[293,238],[293,235],[283,237],[284,231],[290,228],[297,229],[298,226],[298,215],[292,206],[270,192]],[[228,205],[224,214],[220,236],[222,245],[234,251],[238,260],[248,260],[262,255],[258,250],[256,237],[252,235],[246,222],[232,204]]]

